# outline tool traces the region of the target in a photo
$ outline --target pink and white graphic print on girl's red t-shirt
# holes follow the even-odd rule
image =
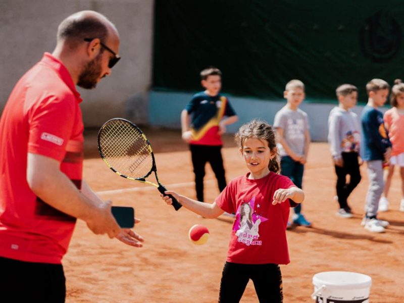
[[[237,241],[245,245],[262,245],[259,240],[259,226],[262,222],[267,221],[267,218],[257,215],[255,210],[255,199],[252,197],[249,202],[241,203],[236,212],[236,223],[233,229],[236,231]],[[257,205],[257,209],[260,205]]]

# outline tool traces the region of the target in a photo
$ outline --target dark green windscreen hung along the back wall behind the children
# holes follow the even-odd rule
[[[223,92],[280,99],[299,79],[312,100],[351,83],[366,100],[372,78],[404,78],[401,1],[156,0],[153,86],[201,89],[223,73]]]

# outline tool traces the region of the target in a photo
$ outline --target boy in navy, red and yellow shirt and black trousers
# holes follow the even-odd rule
[[[207,68],[200,72],[200,78],[205,91],[196,93],[182,111],[181,128],[182,139],[189,143],[191,150],[196,199],[204,201],[207,162],[215,173],[219,190],[226,187],[221,134],[226,132],[226,125],[236,122],[238,118],[228,98],[220,94],[221,71],[215,67]]]

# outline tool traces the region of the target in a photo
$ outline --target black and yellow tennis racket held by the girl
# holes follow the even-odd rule
[[[98,131],[98,151],[108,167],[121,177],[157,187],[164,195],[167,190],[157,176],[156,160],[150,142],[134,123],[114,118],[108,120]],[[146,181],[154,172],[157,184]],[[171,195],[173,207],[178,211],[182,205]]]

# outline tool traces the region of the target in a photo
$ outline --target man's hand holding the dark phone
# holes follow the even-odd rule
[[[95,234],[108,234],[115,238],[121,232],[111,212],[111,201],[104,201],[96,206],[96,212],[86,220],[88,228]]]

